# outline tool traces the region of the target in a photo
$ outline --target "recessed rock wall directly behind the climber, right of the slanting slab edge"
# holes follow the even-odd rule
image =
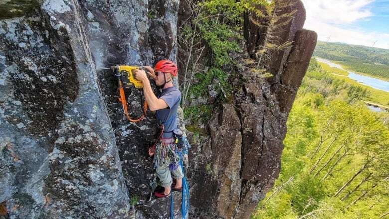
[[[96,66],[113,64],[152,65],[160,59],[176,60],[178,0],[86,1],[92,55]],[[98,71],[102,95],[108,106],[129,196],[138,200],[140,218],[170,217],[170,199],[148,202],[154,178],[153,161],[147,150],[159,134],[154,112],[138,123],[123,119],[116,78],[111,71]],[[175,81],[177,85],[177,81]],[[154,87],[154,86],[153,86]],[[155,87],[154,87],[155,88]],[[158,93],[155,88],[155,92]],[[143,91],[126,90],[133,118],[142,114]],[[180,214],[181,196],[175,193],[175,214]]]

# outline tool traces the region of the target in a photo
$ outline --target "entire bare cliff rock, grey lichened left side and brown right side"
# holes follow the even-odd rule
[[[240,74],[233,103],[215,111],[208,135],[189,133],[190,218],[249,218],[278,176],[287,115],[316,44],[296,2],[281,37],[294,46],[272,63],[274,79]],[[185,4],[0,2],[10,12],[0,15],[0,218],[170,217],[170,199],[147,201],[155,115],[123,120],[115,77],[99,67],[176,60],[179,6]],[[241,58],[260,43],[258,31],[246,25],[248,54]],[[139,116],[141,91],[126,94]],[[174,201],[180,218],[178,193]]]

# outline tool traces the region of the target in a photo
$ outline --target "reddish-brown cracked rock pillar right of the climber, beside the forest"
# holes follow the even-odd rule
[[[277,38],[279,43],[294,41],[293,46],[272,58],[274,76],[253,79],[246,68],[236,66],[233,84],[240,89],[233,104],[215,113],[207,124],[208,136],[194,137],[190,176],[195,217],[248,219],[278,177],[287,116],[317,39],[315,32],[302,29],[305,9],[300,0],[281,13],[291,11],[296,12]],[[247,53],[236,58],[249,58],[263,45],[266,29],[251,23],[249,16],[244,26]]]

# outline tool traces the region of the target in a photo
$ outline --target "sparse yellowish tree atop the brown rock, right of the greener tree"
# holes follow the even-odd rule
[[[296,10],[288,11],[288,7],[294,4],[292,0],[267,0],[266,3],[261,2],[259,7],[252,10],[249,19],[260,29],[266,29],[266,32],[261,36],[261,45],[258,46],[256,55],[256,68],[254,72],[260,73],[261,77],[271,77],[272,74],[267,71],[272,57],[280,50],[290,48],[292,41],[283,42],[280,38],[280,32],[285,31],[285,26],[288,25]]]

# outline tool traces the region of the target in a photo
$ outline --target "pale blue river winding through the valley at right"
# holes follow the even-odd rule
[[[330,67],[345,70],[344,68],[342,68],[341,65],[333,63],[327,59],[319,58],[319,57],[315,57],[315,59],[318,60],[319,62],[323,62],[323,63],[330,65]],[[357,73],[352,72],[352,71],[349,71],[348,77],[353,79],[353,80],[356,80],[360,84],[364,84],[364,85],[367,85],[369,87],[373,87],[374,89],[389,92],[389,81],[384,81],[384,80],[377,79],[374,77],[369,77],[366,75],[357,74]]]

